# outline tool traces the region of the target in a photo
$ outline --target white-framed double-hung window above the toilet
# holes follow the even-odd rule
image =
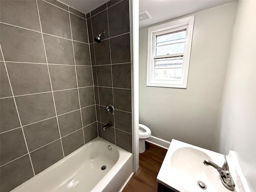
[[[187,88],[194,16],[148,28],[147,86]]]

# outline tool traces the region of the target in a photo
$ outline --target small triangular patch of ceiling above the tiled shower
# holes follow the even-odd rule
[[[60,0],[60,2],[63,2],[85,14],[103,5],[107,1],[108,0]]]

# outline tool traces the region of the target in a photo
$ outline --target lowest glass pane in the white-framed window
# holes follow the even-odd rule
[[[153,70],[153,80],[180,80],[181,77],[182,68]]]

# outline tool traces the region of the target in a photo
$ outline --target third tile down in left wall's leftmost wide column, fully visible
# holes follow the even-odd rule
[[[14,95],[51,91],[47,65],[6,63]]]

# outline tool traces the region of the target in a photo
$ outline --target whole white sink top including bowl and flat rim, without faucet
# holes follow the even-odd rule
[[[232,158],[226,158],[232,174]],[[177,192],[231,192],[222,184],[218,171],[212,166],[205,166],[204,160],[221,167],[224,155],[172,140],[156,180]],[[200,187],[199,182],[205,187]]]

